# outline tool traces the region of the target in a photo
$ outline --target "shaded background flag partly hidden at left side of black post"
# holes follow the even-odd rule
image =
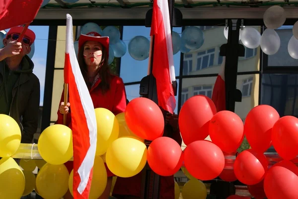
[[[221,65],[221,71],[216,79],[213,92],[212,92],[212,101],[215,103],[217,111],[225,110],[225,82],[224,82],[224,66],[225,66],[225,57]]]

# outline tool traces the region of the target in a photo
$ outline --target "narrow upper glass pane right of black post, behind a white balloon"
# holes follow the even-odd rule
[[[261,32],[261,26],[247,26],[252,27]],[[242,44],[241,41],[239,43]],[[243,44],[242,44],[243,45]],[[247,71],[259,71],[260,67],[260,47],[256,49],[249,49],[245,47],[245,57],[239,57],[238,59],[238,72],[247,72]],[[254,54],[253,52],[256,52]]]

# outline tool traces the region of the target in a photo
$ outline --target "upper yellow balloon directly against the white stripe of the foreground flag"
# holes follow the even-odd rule
[[[95,108],[97,123],[96,156],[103,155],[119,135],[119,123],[108,109]]]

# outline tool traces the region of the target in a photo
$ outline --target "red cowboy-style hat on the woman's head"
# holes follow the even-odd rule
[[[81,34],[78,39],[78,52],[80,50],[80,47],[86,42],[86,41],[97,41],[101,43],[101,45],[105,48],[107,51],[107,57],[109,57],[109,37],[107,36],[101,36],[97,32],[89,32],[87,34]]]

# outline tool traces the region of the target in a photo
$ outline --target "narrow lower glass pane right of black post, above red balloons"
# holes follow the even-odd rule
[[[241,102],[235,103],[235,113],[241,118],[242,121],[245,120],[248,112],[259,103],[259,74],[253,75],[238,75],[237,76],[237,89],[241,91],[243,87],[244,80],[252,78],[251,84],[251,95],[244,96],[242,92]],[[247,83],[248,86],[249,83]],[[246,138],[243,140],[242,145],[238,148],[238,152],[241,152],[249,148],[249,144]]]

